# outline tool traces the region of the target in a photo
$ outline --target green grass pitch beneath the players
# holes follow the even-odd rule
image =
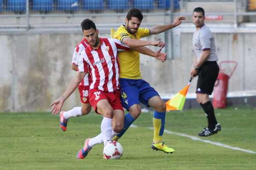
[[[142,113],[119,139],[123,156],[104,160],[103,144],[85,159],[76,159],[87,138],[100,133],[102,116],[89,113],[70,118],[67,131],[59,126],[59,115],[51,113],[0,113],[0,170],[256,170],[256,109],[215,109],[221,132],[203,140],[251,150],[247,153],[215,144],[164,133],[163,142],[175,149],[166,154],[151,150],[154,131],[152,112]],[[201,109],[169,111],[165,129],[197,136],[207,125]]]

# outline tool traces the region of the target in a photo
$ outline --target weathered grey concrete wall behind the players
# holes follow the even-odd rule
[[[166,62],[141,56],[141,72],[160,94],[175,94],[189,81],[191,68],[192,31],[180,31],[180,55]],[[99,29],[100,37],[110,31]],[[51,32],[51,33],[49,33]],[[238,67],[229,81],[229,91],[255,90],[256,33],[214,33],[219,61],[235,60]],[[71,69],[73,48],[82,39],[80,31],[13,32],[0,34],[0,112],[49,111],[49,104],[67,88],[75,75]],[[165,34],[142,40],[169,40]],[[167,45],[166,48],[169,48]],[[157,50],[156,47],[151,47]],[[196,79],[189,93],[194,93]],[[80,106],[76,91],[64,104],[64,110]]]

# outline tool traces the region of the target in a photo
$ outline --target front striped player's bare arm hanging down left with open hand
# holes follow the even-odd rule
[[[50,104],[50,106],[53,105],[51,109],[52,114],[56,115],[60,113],[64,101],[76,90],[79,83],[82,81],[86,74],[87,72],[76,72],[76,76],[71,80],[70,84],[68,85],[66,91],[62,94],[62,96],[54,100],[52,104]]]

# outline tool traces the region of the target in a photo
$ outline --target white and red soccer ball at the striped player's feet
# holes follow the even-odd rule
[[[108,142],[103,149],[104,159],[120,159],[122,156],[122,145],[119,142]]]

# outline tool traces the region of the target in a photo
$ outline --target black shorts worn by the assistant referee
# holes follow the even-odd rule
[[[195,93],[212,94],[215,81],[220,71],[217,62],[207,61],[198,70],[198,82]]]

